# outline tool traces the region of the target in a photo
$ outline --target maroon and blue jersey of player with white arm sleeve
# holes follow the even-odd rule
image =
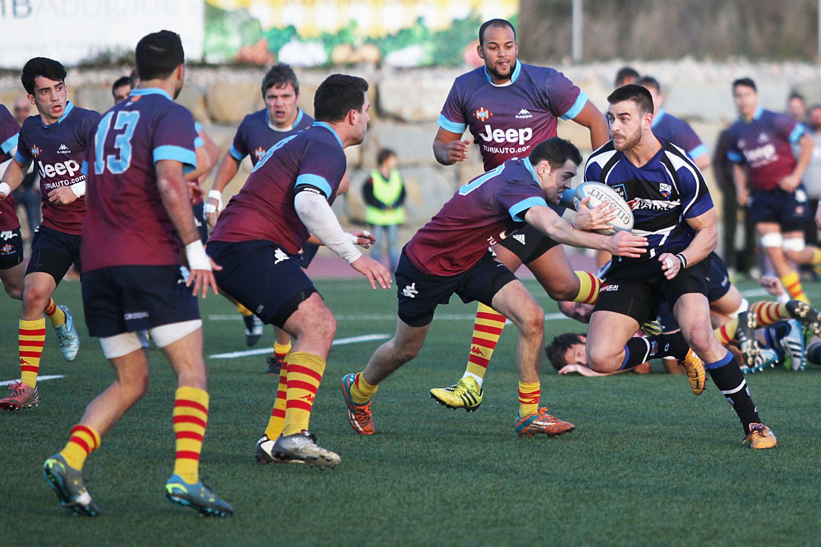
[[[299,253],[310,234],[296,214],[296,193],[307,186],[333,203],[346,166],[342,140],[326,123],[314,122],[282,139],[268,148],[228,202],[210,240],[272,241],[289,254]]]

